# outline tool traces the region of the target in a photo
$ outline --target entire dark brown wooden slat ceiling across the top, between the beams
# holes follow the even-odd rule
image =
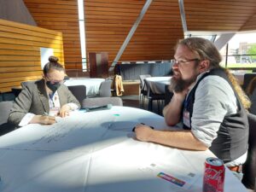
[[[63,33],[67,68],[81,63],[77,0],[24,0],[38,26]],[[87,52],[117,55],[145,0],[84,0]],[[189,31],[256,30],[255,0],[184,0]],[[183,38],[178,0],[154,0],[120,61],[172,59]]]

